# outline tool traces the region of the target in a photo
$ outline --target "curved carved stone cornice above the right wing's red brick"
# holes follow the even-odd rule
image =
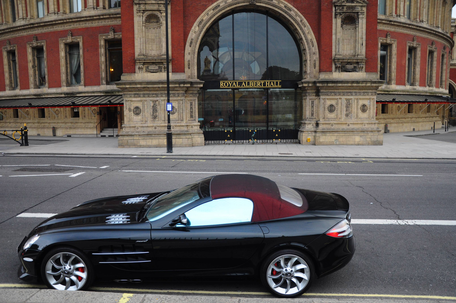
[[[450,49],[453,48],[454,41],[448,33],[439,30],[434,26],[429,26],[424,22],[407,21],[408,22],[400,21],[397,17],[378,15],[377,29],[384,31],[397,31],[419,37],[425,37],[441,42]]]

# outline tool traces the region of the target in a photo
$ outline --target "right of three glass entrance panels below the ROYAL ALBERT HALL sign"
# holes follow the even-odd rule
[[[269,128],[299,127],[301,103],[294,89],[269,89]]]

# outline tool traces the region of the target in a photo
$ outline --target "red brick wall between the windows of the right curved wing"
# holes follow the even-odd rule
[[[378,30],[378,37],[386,37],[386,33],[388,31]],[[409,35],[405,33],[389,31],[391,35],[391,39],[397,39],[397,52],[396,52],[396,85],[405,85],[406,82],[406,60],[407,60],[407,41],[413,41],[414,35]],[[426,86],[426,74],[427,74],[427,49],[428,46],[432,44],[432,39],[423,38],[420,36],[416,36],[416,42],[421,43],[421,55],[420,55],[420,86]],[[378,43],[378,42],[377,42]],[[435,73],[435,87],[438,88],[440,86],[440,59],[441,59],[441,50],[444,47],[443,43],[435,42],[435,46],[437,47],[437,52],[435,56],[437,58],[436,64],[436,73]],[[448,50],[446,48],[446,60],[449,59],[448,57]],[[448,61],[447,61],[448,62]],[[445,72],[445,70],[444,70]],[[446,75],[444,74],[444,77]]]

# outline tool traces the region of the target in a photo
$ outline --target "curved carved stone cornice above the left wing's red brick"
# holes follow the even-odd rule
[[[120,24],[120,10],[83,11],[58,14],[0,26],[0,40],[48,31]]]

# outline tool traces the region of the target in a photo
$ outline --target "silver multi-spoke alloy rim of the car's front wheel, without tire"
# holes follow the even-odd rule
[[[77,255],[59,252],[46,263],[46,279],[58,290],[79,290],[87,282],[87,266]]]

